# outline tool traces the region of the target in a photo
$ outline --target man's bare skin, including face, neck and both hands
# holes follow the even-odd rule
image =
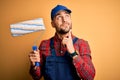
[[[71,15],[64,10],[61,10],[53,18],[51,25],[53,28],[55,28],[59,38],[62,39],[62,44],[66,45],[67,51],[70,54],[75,52],[71,37],[72,29]],[[73,59],[76,57],[77,55],[74,56]],[[29,54],[29,58],[33,66],[35,65],[35,62],[40,62],[39,50],[31,52]]]

